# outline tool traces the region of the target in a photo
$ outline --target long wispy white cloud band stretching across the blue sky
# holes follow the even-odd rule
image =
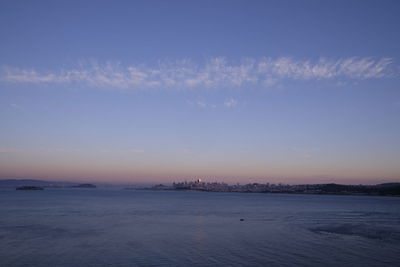
[[[391,58],[303,60],[290,57],[245,58],[232,62],[216,57],[160,61],[156,66],[85,63],[70,69],[39,71],[4,66],[1,80],[12,83],[78,84],[119,89],[191,89],[271,86],[284,80],[371,79],[393,75]]]

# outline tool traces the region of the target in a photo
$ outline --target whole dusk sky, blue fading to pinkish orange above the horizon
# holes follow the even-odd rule
[[[0,1],[0,179],[400,181],[399,1]]]

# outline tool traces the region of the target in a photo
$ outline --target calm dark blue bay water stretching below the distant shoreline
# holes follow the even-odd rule
[[[400,266],[400,198],[2,190],[0,266]]]

